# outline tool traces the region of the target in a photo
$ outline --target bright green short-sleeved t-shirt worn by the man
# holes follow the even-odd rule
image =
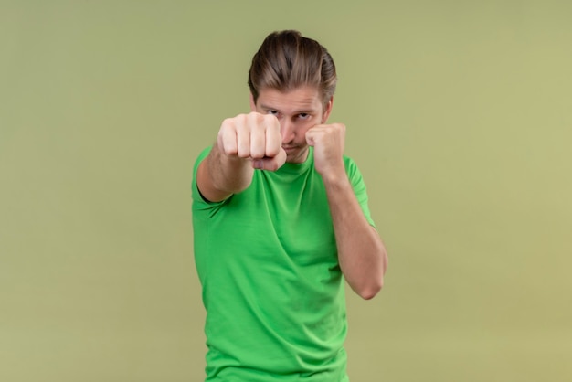
[[[207,381],[344,382],[344,279],[312,148],[302,164],[255,170],[252,183],[207,203],[193,175],[196,270],[207,310]],[[365,217],[362,176],[344,157]]]

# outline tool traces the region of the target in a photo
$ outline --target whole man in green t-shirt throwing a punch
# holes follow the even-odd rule
[[[207,381],[349,380],[344,280],[373,298],[387,253],[345,126],[326,124],[335,84],[318,42],[270,34],[249,70],[251,112],[196,160]]]

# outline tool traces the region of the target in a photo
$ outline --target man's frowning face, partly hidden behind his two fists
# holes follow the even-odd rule
[[[278,118],[286,162],[302,163],[308,156],[306,132],[325,123],[332,111],[334,99],[330,99],[325,108],[322,101],[320,90],[312,86],[287,92],[265,88],[260,90],[256,103],[250,95],[250,110]]]

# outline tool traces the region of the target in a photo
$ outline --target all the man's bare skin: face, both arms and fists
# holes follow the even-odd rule
[[[364,299],[383,286],[387,251],[362,212],[345,174],[345,126],[326,124],[334,99],[320,91],[262,89],[250,95],[250,113],[222,122],[217,143],[199,165],[196,182],[207,200],[221,201],[246,189],[254,169],[276,171],[285,162],[303,163],[313,146],[314,167],[322,175],[334,222],[344,278]]]

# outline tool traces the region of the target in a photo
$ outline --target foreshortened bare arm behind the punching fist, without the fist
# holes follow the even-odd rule
[[[217,202],[250,186],[253,172],[249,159],[225,155],[215,144],[198,167],[196,183],[202,196]]]

